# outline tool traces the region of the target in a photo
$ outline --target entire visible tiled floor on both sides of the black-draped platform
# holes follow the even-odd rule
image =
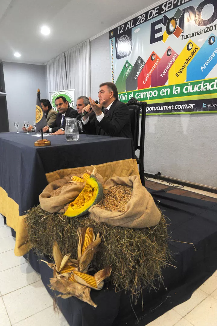
[[[195,189],[171,188],[168,183],[146,180],[146,187],[217,202],[217,195]],[[14,238],[0,215],[0,326],[66,326],[61,312],[37,274],[23,257],[13,253]],[[192,297],[155,319],[149,326],[217,326],[217,271]],[[98,325],[103,326],[103,325]],[[129,325],[130,326],[130,325]],[[141,326],[142,325],[141,323]]]

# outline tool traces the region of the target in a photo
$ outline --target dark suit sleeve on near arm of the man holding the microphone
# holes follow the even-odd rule
[[[121,103],[115,108],[111,121],[106,116],[98,123],[108,136],[119,136],[123,127],[129,122],[130,115],[126,104]]]

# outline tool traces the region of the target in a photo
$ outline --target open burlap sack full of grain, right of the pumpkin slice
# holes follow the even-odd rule
[[[132,187],[132,195],[128,187],[121,191],[117,185]],[[110,191],[107,196],[112,187],[113,192]],[[94,205],[89,209],[90,217],[95,221],[135,229],[159,223],[161,213],[138,176],[110,178],[106,181],[104,190],[107,200],[103,200],[102,205]]]

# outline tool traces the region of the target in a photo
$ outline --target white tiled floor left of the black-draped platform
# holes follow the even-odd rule
[[[0,215],[0,326],[67,326],[41,277],[23,257],[14,255],[15,240]]]

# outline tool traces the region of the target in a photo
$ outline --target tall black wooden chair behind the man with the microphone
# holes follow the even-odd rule
[[[145,186],[144,175],[144,144],[145,144],[145,117],[146,117],[146,102],[138,102],[132,97],[127,103],[130,120],[131,131],[133,135],[135,150],[139,150],[139,157],[136,156],[137,164],[139,164],[139,175],[142,185]],[[141,130],[139,132],[139,120],[141,115]]]

